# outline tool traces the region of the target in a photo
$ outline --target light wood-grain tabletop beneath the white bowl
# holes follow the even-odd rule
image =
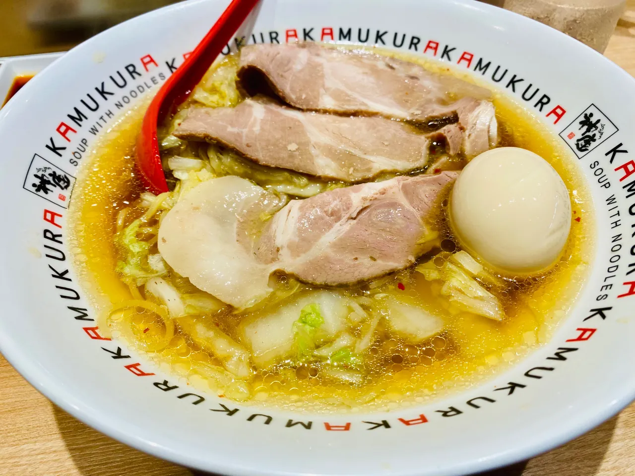
[[[635,76],[635,0],[606,50]],[[0,355],[0,476],[192,476],[77,421],[37,393]],[[635,475],[635,404],[569,444],[490,476]]]

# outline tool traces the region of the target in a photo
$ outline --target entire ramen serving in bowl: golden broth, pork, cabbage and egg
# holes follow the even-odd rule
[[[81,171],[76,263],[100,332],[200,392],[423,402],[545,343],[584,282],[591,201],[569,154],[437,63],[246,46],[159,128],[158,195],[135,171],[143,113]]]

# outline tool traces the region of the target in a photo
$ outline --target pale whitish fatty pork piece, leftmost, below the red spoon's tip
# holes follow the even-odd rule
[[[163,218],[159,252],[197,288],[244,307],[271,292],[271,266],[255,258],[251,238],[262,227],[260,214],[276,206],[276,197],[244,178],[208,180]]]

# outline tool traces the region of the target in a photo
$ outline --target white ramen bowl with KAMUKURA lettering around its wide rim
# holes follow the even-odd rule
[[[114,27],[60,58],[0,112],[0,350],[34,387],[110,437],[229,475],[479,472],[563,444],[634,399],[635,81],[556,30],[469,0],[265,0],[254,37],[357,43],[368,30],[367,44],[410,49],[502,89],[572,146],[570,160],[591,190],[596,251],[580,298],[549,343],[431,404],[307,415],[186,395],[194,390],[123,343],[102,340],[69,263],[72,177],[99,136],[160,87],[224,7],[192,0]],[[122,83],[119,72],[123,88],[110,79]],[[525,97],[540,91],[524,100],[530,85]],[[578,117],[589,109],[603,135],[580,154]],[[78,111],[79,125],[69,119]],[[37,192],[34,175],[44,167],[69,176],[68,188]]]

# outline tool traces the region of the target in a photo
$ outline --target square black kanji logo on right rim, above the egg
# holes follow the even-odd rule
[[[578,159],[582,159],[618,131],[617,126],[594,104],[560,133]]]

